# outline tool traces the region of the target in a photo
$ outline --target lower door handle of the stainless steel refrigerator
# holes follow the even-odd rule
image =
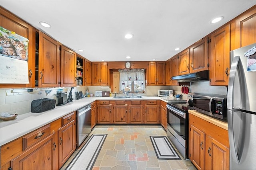
[[[230,145],[230,154],[232,155],[233,161],[239,164],[240,160],[236,152],[233,122],[233,113],[231,110],[228,110],[228,139]]]

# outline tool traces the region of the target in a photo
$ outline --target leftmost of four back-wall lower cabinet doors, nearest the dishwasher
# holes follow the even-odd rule
[[[111,105],[98,106],[98,123],[113,123],[111,115]]]

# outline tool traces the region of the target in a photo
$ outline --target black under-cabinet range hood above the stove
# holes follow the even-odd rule
[[[180,76],[173,76],[172,80],[178,80],[178,82],[209,81],[209,70],[184,74]]]

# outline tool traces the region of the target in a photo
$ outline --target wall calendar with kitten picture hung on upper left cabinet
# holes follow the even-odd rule
[[[0,83],[28,84],[28,39],[0,26]]]

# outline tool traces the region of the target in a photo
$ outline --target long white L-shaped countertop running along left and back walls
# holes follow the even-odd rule
[[[34,131],[56,119],[63,117],[77,109],[86,106],[96,100],[163,100],[156,96],[142,96],[142,98],[114,99],[111,97],[87,97],[74,100],[63,106],[55,106],[54,109],[42,113],[25,113],[18,115],[16,119],[10,121],[0,120],[0,146],[13,141],[31,131]],[[163,100],[165,101],[165,100]],[[166,102],[166,101],[165,101]]]

